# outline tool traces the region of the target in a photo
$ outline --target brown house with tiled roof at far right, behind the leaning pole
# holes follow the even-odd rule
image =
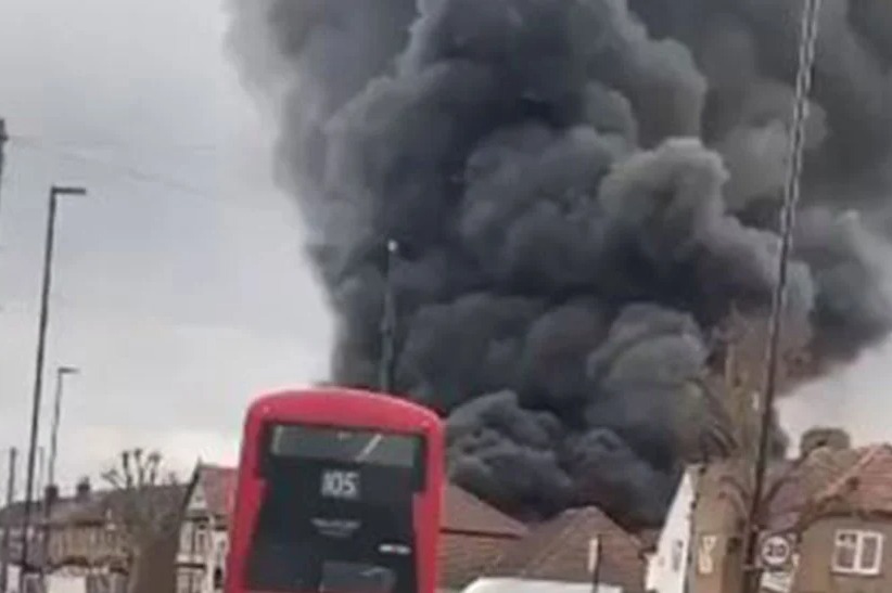
[[[729,488],[736,475],[715,463],[698,480],[691,593],[740,591],[746,506]],[[770,468],[767,485],[760,551],[777,569],[763,576],[764,591],[892,591],[892,447],[852,448],[844,433],[816,429],[798,459]]]

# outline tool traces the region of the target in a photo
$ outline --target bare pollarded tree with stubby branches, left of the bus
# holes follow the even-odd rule
[[[113,489],[106,508],[119,532],[128,593],[137,591],[153,547],[177,533],[181,523],[183,488],[162,466],[157,451],[131,449],[102,475]]]

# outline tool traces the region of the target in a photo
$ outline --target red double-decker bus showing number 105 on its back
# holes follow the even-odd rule
[[[226,593],[434,593],[443,433],[434,412],[381,394],[255,401]]]

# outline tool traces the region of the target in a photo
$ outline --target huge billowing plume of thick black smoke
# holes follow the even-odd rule
[[[892,326],[889,7],[821,18],[790,314],[834,358]],[[679,409],[712,330],[769,301],[800,8],[237,2],[339,314],[335,378],[375,384],[396,239],[397,384],[450,413],[454,478],[519,514],[659,519],[705,430]]]

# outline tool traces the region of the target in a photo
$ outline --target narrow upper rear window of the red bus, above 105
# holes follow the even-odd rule
[[[276,424],[271,427],[268,442],[272,457],[362,463],[406,469],[418,469],[423,465],[423,440],[419,435]]]

